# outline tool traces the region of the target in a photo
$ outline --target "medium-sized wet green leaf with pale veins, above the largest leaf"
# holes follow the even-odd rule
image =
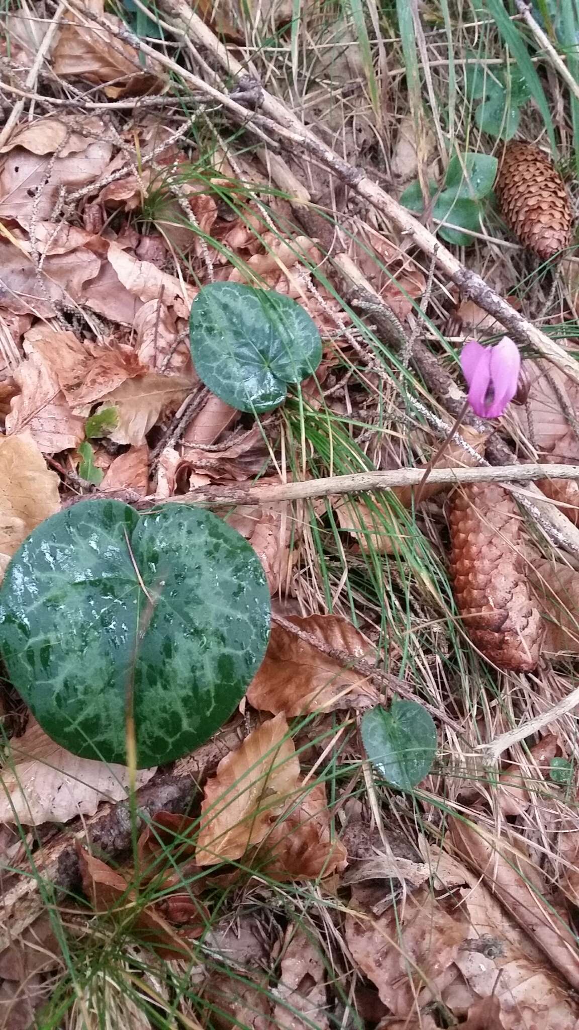
[[[190,336],[200,379],[239,411],[277,408],[287,384],[313,375],[321,360],[319,333],[300,304],[240,282],[201,287]]]

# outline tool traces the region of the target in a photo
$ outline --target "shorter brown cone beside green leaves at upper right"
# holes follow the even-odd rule
[[[573,214],[558,172],[533,143],[507,143],[495,192],[505,221],[547,261],[571,242]]]

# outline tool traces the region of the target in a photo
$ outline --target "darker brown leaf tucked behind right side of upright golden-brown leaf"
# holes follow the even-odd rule
[[[262,851],[265,861],[260,861]],[[259,861],[260,871],[274,880],[317,880],[345,868],[346,849],[341,840],[332,839],[322,783],[303,787],[252,861]]]

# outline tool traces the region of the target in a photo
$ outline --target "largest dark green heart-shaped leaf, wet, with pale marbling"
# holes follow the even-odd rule
[[[125,762],[132,703],[139,767],[219,728],[269,628],[256,552],[184,505],[74,505],[25,540],[0,588],[2,655],[42,728],[74,754]]]

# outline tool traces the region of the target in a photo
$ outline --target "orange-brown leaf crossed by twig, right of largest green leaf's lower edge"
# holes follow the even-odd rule
[[[291,616],[287,619],[322,647],[344,651],[352,658],[372,661],[373,648],[347,619],[337,615]],[[368,678],[344,667],[313,644],[273,623],[263,664],[247,691],[247,700],[261,712],[287,718],[306,712],[367,709],[379,701]]]

